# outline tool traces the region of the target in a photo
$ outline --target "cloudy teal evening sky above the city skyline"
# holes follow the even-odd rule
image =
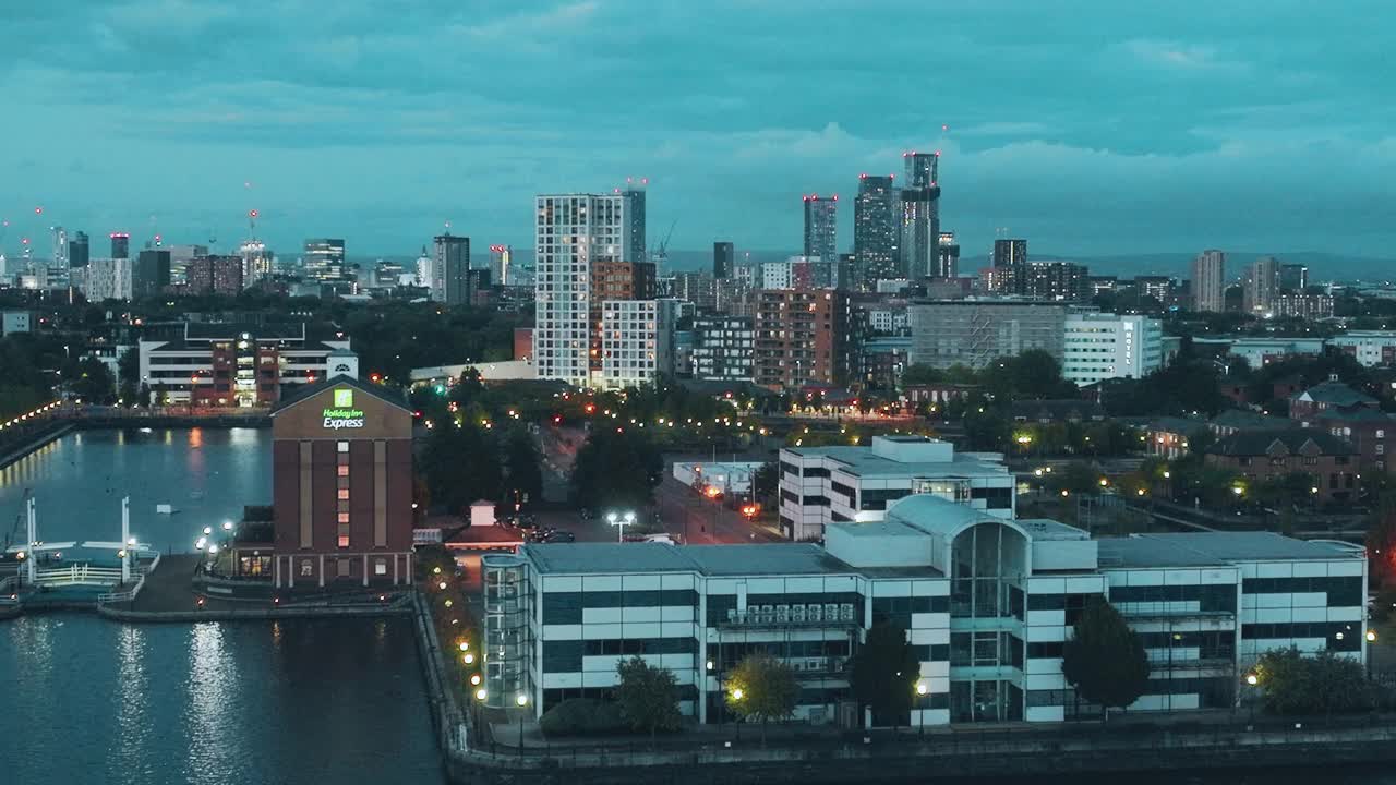
[[[530,247],[630,176],[652,243],[797,251],[838,193],[849,250],[859,175],[941,149],[966,256],[1393,258],[1393,45],[1386,0],[4,3],[0,247]]]

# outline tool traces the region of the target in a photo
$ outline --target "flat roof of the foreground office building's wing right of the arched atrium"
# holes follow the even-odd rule
[[[1103,538],[1100,567],[1208,567],[1238,562],[1311,562],[1361,557],[1357,546],[1294,539],[1275,532],[1180,532]]]

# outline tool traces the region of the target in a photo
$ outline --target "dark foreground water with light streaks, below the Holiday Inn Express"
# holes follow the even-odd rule
[[[410,623],[0,622],[0,782],[444,782]]]

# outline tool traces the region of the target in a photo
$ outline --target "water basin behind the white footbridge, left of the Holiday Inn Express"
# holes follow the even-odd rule
[[[24,514],[25,490],[36,500],[43,541],[119,541],[128,494],[133,535],[159,550],[191,550],[204,527],[240,520],[244,504],[271,504],[271,432],[70,433],[0,469],[0,541]],[[156,514],[156,504],[177,513]]]

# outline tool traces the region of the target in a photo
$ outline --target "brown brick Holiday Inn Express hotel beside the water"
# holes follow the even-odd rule
[[[412,582],[412,412],[348,376],[272,412],[276,587]]]

